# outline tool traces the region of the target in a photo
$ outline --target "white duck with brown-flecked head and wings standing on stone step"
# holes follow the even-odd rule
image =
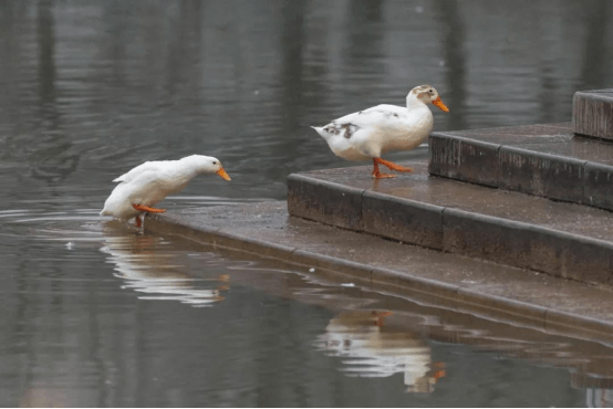
[[[406,96],[406,108],[382,104],[312,128],[336,156],[347,160],[373,159],[374,178],[394,178],[395,175],[382,174],[378,165],[396,171],[413,169],[382,159],[381,155],[388,150],[415,149],[428,137],[434,125],[428,103],[449,112],[433,86],[419,85]]]

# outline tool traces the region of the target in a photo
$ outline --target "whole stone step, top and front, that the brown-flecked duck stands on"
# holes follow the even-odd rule
[[[403,243],[611,285],[613,213],[428,175],[426,161],[396,179],[371,167],[292,174],[295,217]]]

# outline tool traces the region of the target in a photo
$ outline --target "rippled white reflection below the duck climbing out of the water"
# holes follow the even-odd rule
[[[200,307],[222,301],[221,293],[229,290],[228,274],[211,279],[189,275],[187,266],[177,265],[174,254],[162,247],[160,238],[136,233],[117,220],[106,222],[103,234],[105,245],[100,250],[115,264],[114,275],[125,281],[123,289],[148,294],[139,300],[174,300]],[[212,287],[196,287],[202,283]]]

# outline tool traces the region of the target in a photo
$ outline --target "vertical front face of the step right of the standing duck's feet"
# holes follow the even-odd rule
[[[428,151],[430,175],[613,210],[613,166],[446,133]]]

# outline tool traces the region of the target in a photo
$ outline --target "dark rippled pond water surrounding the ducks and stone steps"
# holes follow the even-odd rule
[[[309,125],[422,83],[437,130],[568,122],[612,86],[612,39],[610,1],[0,2],[0,405],[611,406],[609,346],[97,212],[116,176],[194,153],[232,181],[170,211],[283,199],[288,174],[352,165]]]

